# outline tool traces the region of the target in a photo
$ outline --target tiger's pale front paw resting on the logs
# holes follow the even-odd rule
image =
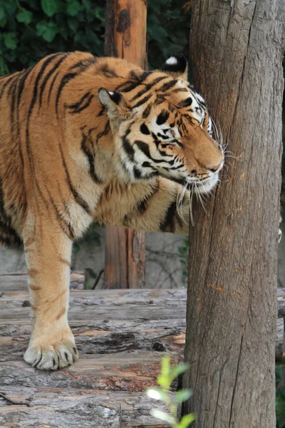
[[[75,342],[70,339],[41,345],[36,345],[32,340],[24,354],[24,360],[38,370],[63,369],[78,360],[78,350]]]

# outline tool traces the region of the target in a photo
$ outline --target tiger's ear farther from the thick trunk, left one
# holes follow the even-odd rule
[[[106,88],[100,88],[98,97],[110,118],[126,118],[130,113],[130,108],[128,108],[125,98],[120,92],[109,92]]]

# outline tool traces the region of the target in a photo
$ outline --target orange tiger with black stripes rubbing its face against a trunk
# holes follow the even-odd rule
[[[175,53],[160,70],[56,53],[0,78],[0,243],[22,243],[33,331],[24,360],[72,365],[73,240],[93,222],[189,233],[192,194],[217,185],[222,146]]]

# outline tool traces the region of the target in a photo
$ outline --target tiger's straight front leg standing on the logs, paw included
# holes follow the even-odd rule
[[[78,359],[67,317],[72,242],[53,220],[41,216],[33,226],[23,237],[33,310],[24,360],[40,370],[56,370]]]

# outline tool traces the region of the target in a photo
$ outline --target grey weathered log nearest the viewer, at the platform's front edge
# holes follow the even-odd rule
[[[30,404],[5,405],[0,398],[1,427],[162,428],[150,415],[154,402],[138,392],[94,389],[2,387],[8,397]],[[162,409],[165,408],[162,404]]]

